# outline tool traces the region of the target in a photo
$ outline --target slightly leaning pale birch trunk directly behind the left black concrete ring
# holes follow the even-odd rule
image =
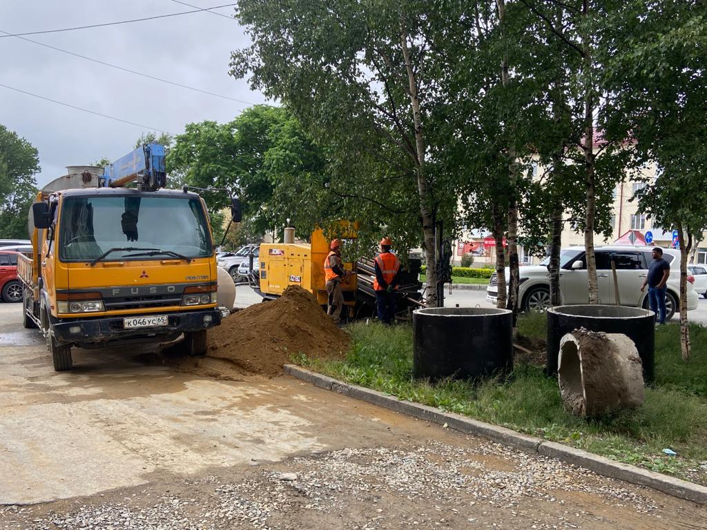
[[[410,62],[410,50],[407,45],[407,30],[400,21],[400,48],[407,69],[407,79],[409,83],[410,105],[412,107],[412,119],[415,126],[415,148],[416,148],[416,173],[417,191],[420,197],[420,217],[422,220],[422,233],[425,245],[425,265],[427,267],[426,277],[426,301],[428,307],[437,307],[437,285],[436,285],[436,246],[435,227],[432,217],[432,194],[430,185],[425,173],[425,143],[422,136],[422,117],[420,113],[420,100],[418,97],[417,80],[415,72]]]

